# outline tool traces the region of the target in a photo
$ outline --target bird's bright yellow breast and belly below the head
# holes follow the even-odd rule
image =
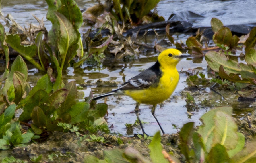
[[[177,69],[162,70],[162,77],[157,86],[141,90],[125,90],[124,94],[143,104],[156,105],[168,99],[179,82]]]

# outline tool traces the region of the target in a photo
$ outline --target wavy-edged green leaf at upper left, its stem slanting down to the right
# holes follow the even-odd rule
[[[32,63],[37,69],[44,71],[44,68],[38,64],[33,57],[36,55],[36,45],[23,46],[20,44],[20,36],[19,35],[7,35],[7,39],[5,40],[8,45],[10,45],[15,51],[17,51],[20,55],[22,55],[26,60]]]

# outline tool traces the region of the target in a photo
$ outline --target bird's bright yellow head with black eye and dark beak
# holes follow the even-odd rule
[[[158,62],[162,68],[176,68],[181,58],[189,57],[189,55],[182,55],[179,50],[167,49],[162,51],[158,56]]]

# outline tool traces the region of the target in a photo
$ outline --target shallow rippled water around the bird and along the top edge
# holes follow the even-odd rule
[[[86,9],[88,7],[96,4],[96,0],[87,0],[87,1],[76,1],[79,5],[80,9]],[[11,14],[13,18],[22,26],[27,26],[30,22],[37,24],[36,20],[32,16],[35,15],[39,19],[44,18],[45,26],[49,30],[51,28],[51,23],[46,21],[46,13],[47,13],[48,5],[45,1],[34,1],[34,0],[15,0],[15,1],[3,1],[2,2],[2,12],[6,14]],[[170,1],[164,0],[160,1],[157,7],[159,15],[164,16],[167,20],[171,13],[173,12],[183,12],[183,11],[193,11],[203,17],[191,18],[194,23],[194,26],[210,26],[210,20],[212,17],[219,18],[225,25],[230,24],[254,24],[255,20],[255,3],[254,1],[216,1],[216,0],[188,0],[188,1]],[[241,14],[243,13],[243,14]],[[3,21],[0,20],[2,23]],[[83,32],[83,28],[80,29],[80,32]],[[177,36],[177,35],[174,35]],[[188,35],[178,35],[176,41],[182,40],[185,42]],[[77,84],[84,83],[92,83],[92,85],[88,84],[88,86],[84,90],[80,90],[84,92],[85,97],[89,95],[90,91],[93,91],[94,94],[101,94],[116,87],[110,88],[98,88],[95,85],[95,82],[98,79],[102,79],[103,81],[114,81],[118,82],[119,85],[131,77],[137,75],[139,71],[143,69],[147,69],[156,61],[156,57],[158,54],[154,54],[153,52],[149,52],[148,54],[142,54],[138,59],[133,60],[129,63],[117,63],[117,66],[114,68],[102,67],[100,70],[88,70],[86,66],[82,66],[78,69],[69,68],[67,70],[67,75],[64,75],[64,80],[72,81],[75,80]],[[203,60],[202,63],[193,63],[192,60],[183,59],[177,65],[177,70],[179,72],[187,71],[188,69],[200,68],[202,72],[206,72],[206,62]],[[36,69],[29,66],[29,75],[30,75],[30,83],[33,85],[40,78],[42,73],[38,73]],[[201,109],[199,112],[196,112],[193,116],[188,116],[187,108],[185,107],[186,102],[185,99],[182,99],[180,96],[181,90],[186,87],[185,80],[187,76],[185,73],[180,73],[180,82],[171,96],[170,100],[164,102],[162,107],[157,106],[156,109],[156,117],[161,123],[163,129],[167,134],[176,132],[176,129],[173,129],[171,124],[176,124],[178,127],[181,127],[183,124],[187,122],[196,122],[197,125],[200,124],[199,118],[203,113],[205,113],[206,109]],[[206,89],[206,93],[209,93],[210,90]],[[217,96],[217,95],[214,95]],[[175,98],[173,98],[175,97]],[[220,99],[220,98],[219,98]],[[82,99],[81,99],[82,100]],[[99,102],[103,102],[100,100]],[[196,101],[199,103],[200,101]],[[136,120],[136,116],[133,113],[135,107],[135,101],[126,96],[118,96],[118,97],[110,97],[107,101],[109,105],[109,116],[107,117],[107,121],[109,125],[113,124],[113,128],[111,128],[112,132],[118,132],[120,134],[126,135],[125,124],[126,123],[134,123]],[[240,104],[234,104],[237,108],[243,108],[244,106],[240,106]],[[153,135],[159,127],[151,115],[149,105],[141,105],[140,106],[140,118],[142,121],[146,122],[144,124],[144,129],[147,134]],[[238,113],[238,117],[242,117],[245,112],[241,111],[243,109],[238,109],[236,113]],[[135,129],[135,133],[141,133],[140,129]]]

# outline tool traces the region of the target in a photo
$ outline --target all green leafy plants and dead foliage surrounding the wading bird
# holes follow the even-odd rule
[[[84,142],[111,146],[109,140],[103,136],[109,133],[104,120],[108,105],[90,102],[92,94],[85,101],[79,101],[75,81],[63,81],[62,74],[69,66],[76,68],[83,62],[99,66],[104,58],[129,60],[143,50],[164,50],[165,47],[158,41],[149,43],[150,46],[137,42],[138,38],[146,38],[146,34],[141,36],[139,31],[131,36],[123,35],[132,27],[163,21],[155,10],[151,12],[159,0],[108,0],[87,9],[83,14],[73,0],[46,2],[46,18],[52,23],[50,31],[36,17],[39,26],[31,25],[29,29],[23,29],[10,16],[4,17],[1,13],[1,18],[10,31],[5,32],[5,26],[0,24],[0,53],[6,62],[0,79],[0,149],[26,147],[28,142],[44,141],[54,132],[74,133],[78,137],[79,148]],[[91,26],[94,31],[88,30],[83,34],[82,40],[79,28],[83,24],[83,18],[86,19],[85,25]],[[247,36],[238,37],[220,20],[213,18],[212,40],[208,40],[202,31],[198,31],[185,43],[175,43],[170,33],[170,24],[167,22],[165,27],[168,46],[188,52],[194,58],[205,57],[209,67],[208,78],[199,71],[186,72],[189,74],[188,90],[195,91],[206,87],[214,91],[236,90],[241,97],[254,100],[256,27]],[[10,54],[13,50],[19,55],[10,66]],[[237,50],[242,53],[237,55]],[[28,68],[24,60],[44,72],[33,87],[27,82]],[[205,100],[201,104],[211,106]],[[199,109],[189,93],[187,108],[188,112]],[[15,111],[19,109],[23,112],[17,116]],[[170,151],[166,152],[167,149],[162,149],[158,132],[153,138],[139,136],[142,141],[152,139],[148,145],[151,160],[144,157],[144,154],[139,154],[137,149],[123,146],[123,149],[105,150],[102,156],[104,160],[85,155],[84,162],[255,162],[255,138],[246,142],[246,137],[238,132],[238,122],[232,118],[231,107],[212,109],[201,117],[201,121],[203,124],[199,127],[195,128],[194,123],[190,122],[180,129],[179,143],[176,143],[179,153],[175,156],[168,153]],[[127,124],[127,128],[128,126]],[[132,125],[129,127],[132,128]],[[249,128],[255,129],[255,122]],[[124,141],[119,137],[115,143],[121,146]],[[48,161],[58,161],[58,156],[68,158],[71,155],[53,153],[48,155]],[[41,159],[42,155],[39,155],[30,161],[40,162]],[[22,160],[10,156],[3,162]]]

